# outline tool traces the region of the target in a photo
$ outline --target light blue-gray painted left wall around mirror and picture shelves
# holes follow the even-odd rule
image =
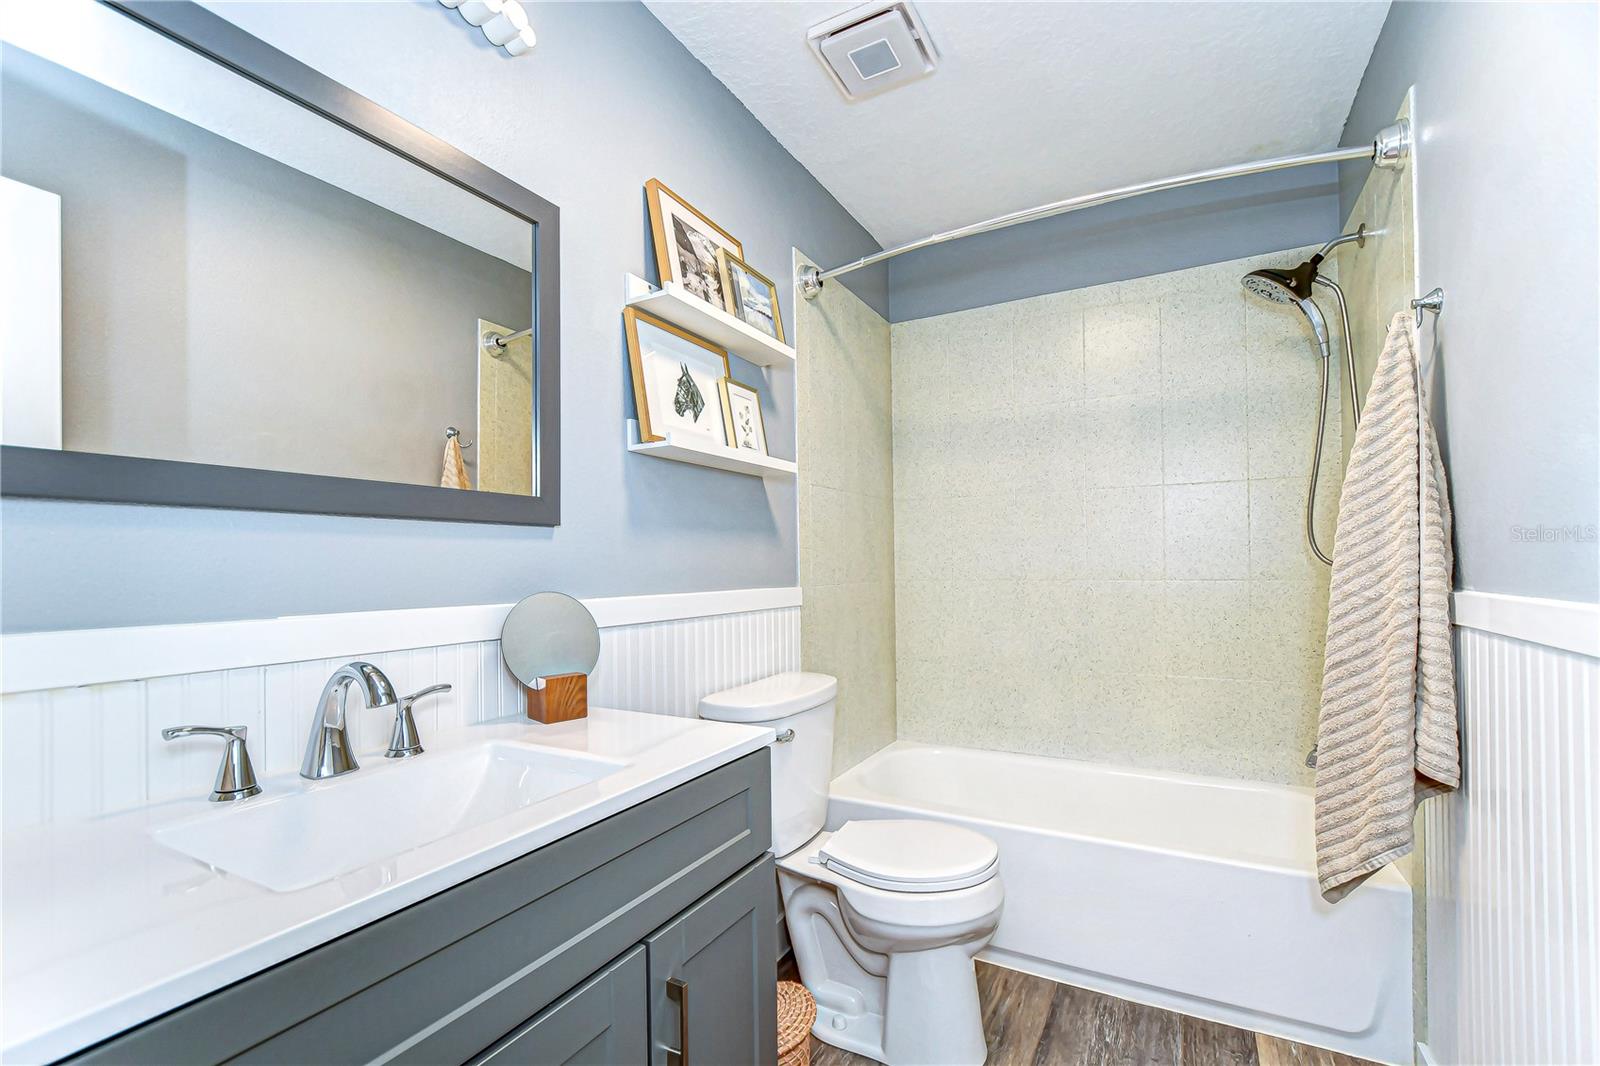
[[[539,46],[510,59],[437,3],[218,6],[560,205],[560,528],[8,499],[6,631],[795,584],[792,487],[624,447],[622,274],[654,274],[643,186],[666,181],[771,277],[795,245],[845,261],[877,243],[642,5],[530,8]],[[886,309],[882,279],[851,287]],[[734,373],[770,391],[768,439],[794,455],[794,376]]]

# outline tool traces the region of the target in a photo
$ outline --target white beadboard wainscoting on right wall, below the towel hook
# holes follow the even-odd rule
[[[1462,784],[1422,805],[1427,1053],[1597,1063],[1600,608],[1494,599],[1456,594]]]

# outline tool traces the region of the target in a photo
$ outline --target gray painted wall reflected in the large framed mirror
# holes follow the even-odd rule
[[[3,112],[61,197],[69,450],[437,485],[482,435],[477,322],[528,325],[528,271],[18,48]]]

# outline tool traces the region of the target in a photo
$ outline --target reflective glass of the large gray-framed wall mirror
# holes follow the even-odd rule
[[[117,13],[32,6],[0,194],[59,213],[6,248],[59,258],[59,343],[8,341],[5,443],[440,485],[459,426],[472,485],[534,491],[533,343],[480,343],[533,323],[528,221]]]

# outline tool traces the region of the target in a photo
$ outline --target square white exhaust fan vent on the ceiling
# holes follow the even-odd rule
[[[939,56],[909,0],[851,8],[813,26],[806,43],[845,99],[877,96],[926,77]]]

